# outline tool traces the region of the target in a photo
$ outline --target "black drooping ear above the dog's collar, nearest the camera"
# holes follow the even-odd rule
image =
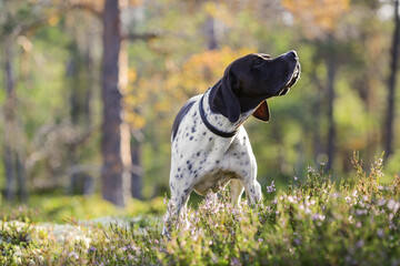
[[[239,120],[241,112],[239,99],[233,93],[234,82],[236,76],[228,68],[221,81],[213,88],[216,91],[210,94],[211,108],[218,110],[232,123]]]

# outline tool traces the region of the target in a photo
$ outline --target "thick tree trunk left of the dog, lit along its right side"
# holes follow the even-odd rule
[[[121,92],[119,90],[119,53],[121,44],[120,10],[118,0],[106,0],[103,9],[103,59],[101,96],[103,122],[101,152],[102,196],[118,205],[124,205],[121,158]]]

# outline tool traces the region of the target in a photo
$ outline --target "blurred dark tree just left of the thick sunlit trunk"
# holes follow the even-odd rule
[[[74,23],[77,20],[81,21],[79,25]],[[69,191],[73,194],[90,194],[94,190],[93,176],[82,167],[83,158],[79,150],[87,144],[93,133],[96,64],[92,41],[96,37],[92,31],[97,27],[93,18],[86,12],[69,12],[66,13],[66,28],[71,35],[68,45],[70,58],[66,65],[67,90],[70,92],[70,121],[72,127],[84,131],[67,145],[69,168],[81,168],[81,171],[70,171]]]

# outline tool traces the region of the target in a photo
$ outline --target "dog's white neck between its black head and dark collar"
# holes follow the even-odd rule
[[[207,121],[217,130],[222,131],[222,132],[234,132],[238,131],[238,129],[246,122],[246,120],[253,113],[253,110],[246,112],[246,113],[241,113],[240,117],[237,122],[232,123],[229,121],[228,117],[223,116],[220,113],[216,113],[211,110],[210,108],[210,91],[211,89],[209,89],[204,95],[203,95],[203,111],[204,111],[204,116],[207,119]]]

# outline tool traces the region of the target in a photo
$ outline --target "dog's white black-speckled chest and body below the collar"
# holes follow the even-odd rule
[[[218,121],[217,121],[218,122]],[[198,105],[182,119],[172,142],[172,171],[193,183],[199,194],[217,191],[231,178],[251,172],[251,147],[243,126],[233,137],[220,137],[202,123]]]

